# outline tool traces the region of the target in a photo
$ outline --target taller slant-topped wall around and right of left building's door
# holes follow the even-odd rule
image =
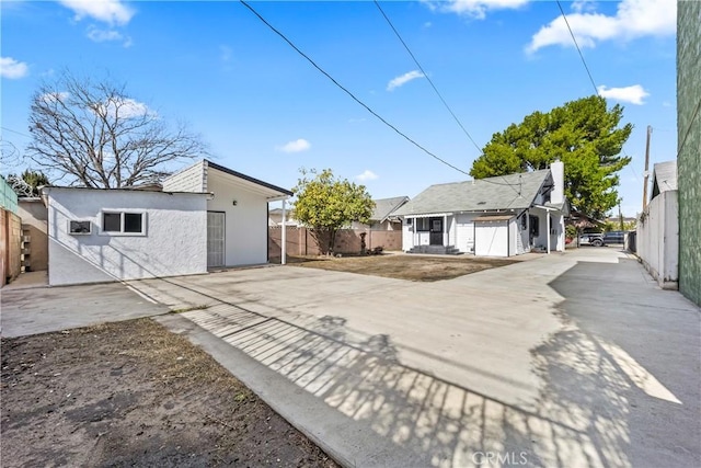
[[[226,213],[226,265],[267,263],[267,199],[228,183],[226,175],[212,169],[207,173],[207,191],[214,193],[207,209]]]

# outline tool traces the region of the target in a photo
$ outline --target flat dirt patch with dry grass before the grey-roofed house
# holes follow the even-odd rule
[[[382,254],[366,256],[306,256],[292,258],[289,264],[332,270],[336,272],[360,273],[399,279],[433,282],[450,279],[482,270],[510,265],[517,262],[508,259],[474,256],[426,256]]]

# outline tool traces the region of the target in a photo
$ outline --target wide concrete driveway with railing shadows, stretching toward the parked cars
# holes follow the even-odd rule
[[[133,282],[346,466],[700,466],[699,309],[613,248],[438,283]]]

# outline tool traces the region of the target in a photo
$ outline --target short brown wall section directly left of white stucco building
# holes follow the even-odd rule
[[[25,267],[28,271],[48,269],[48,209],[41,198],[20,198],[18,214],[22,218],[22,230],[28,233],[28,253],[25,253]]]

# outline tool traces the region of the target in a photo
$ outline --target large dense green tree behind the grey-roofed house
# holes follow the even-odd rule
[[[565,167],[565,195],[572,206],[601,218],[619,203],[618,172],[631,161],[620,152],[633,129],[619,127],[623,107],[607,109],[600,96],[567,102],[548,113],[533,112],[496,133],[470,170],[475,179]]]

